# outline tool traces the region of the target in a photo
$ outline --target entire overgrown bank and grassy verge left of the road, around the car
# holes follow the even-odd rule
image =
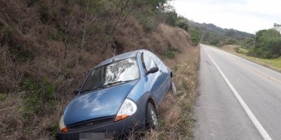
[[[61,113],[91,68],[115,50],[143,48],[173,69],[178,94],[161,106],[159,130],[141,139],[192,139],[200,34],[168,1],[0,0],[0,7],[0,139],[56,139]]]

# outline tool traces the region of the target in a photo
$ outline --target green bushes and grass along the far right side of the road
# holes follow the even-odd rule
[[[216,34],[216,32],[221,30],[219,27],[213,27],[212,29],[214,31],[211,31],[211,34]],[[228,36],[227,39],[221,38],[218,41],[220,43],[205,41],[204,38],[206,35],[209,37],[209,33],[207,33],[204,34],[205,37],[203,36],[202,43],[214,45],[229,52],[235,52],[236,55],[240,55],[240,57],[249,59],[252,62],[262,64],[276,71],[281,71],[280,31],[281,25],[274,24],[272,29],[262,29],[257,31],[255,35],[244,34],[244,37],[240,36],[242,38],[237,38],[235,36],[242,33],[233,30],[227,32],[228,35],[233,37]],[[216,38],[212,39],[216,41]]]

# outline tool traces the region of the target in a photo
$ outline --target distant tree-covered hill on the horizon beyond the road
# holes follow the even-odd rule
[[[211,45],[228,45],[228,44],[251,44],[254,34],[249,34],[244,31],[236,29],[223,29],[214,24],[189,22],[190,28],[197,28],[200,30],[203,43]]]

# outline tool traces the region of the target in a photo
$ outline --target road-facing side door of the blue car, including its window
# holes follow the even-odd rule
[[[155,60],[152,58],[149,52],[143,52],[141,55],[141,59],[144,64],[144,70],[149,71],[152,67],[157,66]],[[161,94],[158,94],[159,88],[162,85],[160,76],[160,71],[157,71],[156,73],[150,73],[148,75],[145,75],[146,84],[150,87],[150,92],[152,92],[153,96],[155,97],[155,100],[157,104],[161,101],[162,97]]]

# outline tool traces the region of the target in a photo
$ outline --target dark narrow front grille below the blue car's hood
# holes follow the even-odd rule
[[[88,128],[98,127],[100,125],[104,125],[106,123],[112,123],[114,116],[108,116],[103,118],[95,118],[91,120],[82,121],[79,123],[74,123],[72,125],[67,126],[67,130],[74,131],[74,130],[84,130]]]

